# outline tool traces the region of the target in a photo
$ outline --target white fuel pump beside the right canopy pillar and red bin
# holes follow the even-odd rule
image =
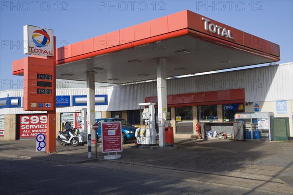
[[[149,145],[156,145],[157,131],[155,129],[155,103],[139,103],[138,105],[140,108],[145,106],[148,106],[148,108],[144,108],[141,116],[141,120],[145,125],[141,125],[141,127],[135,131],[136,144],[146,147]],[[143,126],[145,126],[145,128],[143,128]]]

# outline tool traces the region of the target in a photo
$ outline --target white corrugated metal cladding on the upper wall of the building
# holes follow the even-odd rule
[[[164,87],[164,86],[163,86]],[[293,63],[264,66],[230,72],[214,73],[167,80],[167,94],[245,88],[246,102],[292,100]],[[22,90],[3,91],[0,97],[21,97]],[[108,105],[96,106],[96,111],[139,109],[145,97],[157,96],[156,82],[96,88],[97,95],[108,95]],[[86,95],[86,89],[57,89],[57,95]],[[56,112],[74,112],[84,106],[57,108]],[[1,109],[1,114],[24,113],[22,108]],[[30,113],[30,112],[25,112]]]

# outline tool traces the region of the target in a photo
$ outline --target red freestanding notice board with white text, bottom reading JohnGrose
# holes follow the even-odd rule
[[[121,122],[102,122],[102,153],[122,152]]]

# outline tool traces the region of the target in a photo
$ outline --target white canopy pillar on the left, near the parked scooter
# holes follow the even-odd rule
[[[93,124],[96,122],[95,118],[95,72],[86,72],[86,126],[87,135],[91,134],[91,139],[95,139],[95,130]]]

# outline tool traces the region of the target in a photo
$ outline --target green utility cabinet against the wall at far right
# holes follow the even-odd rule
[[[289,140],[289,117],[274,117],[272,121],[274,140]]]

